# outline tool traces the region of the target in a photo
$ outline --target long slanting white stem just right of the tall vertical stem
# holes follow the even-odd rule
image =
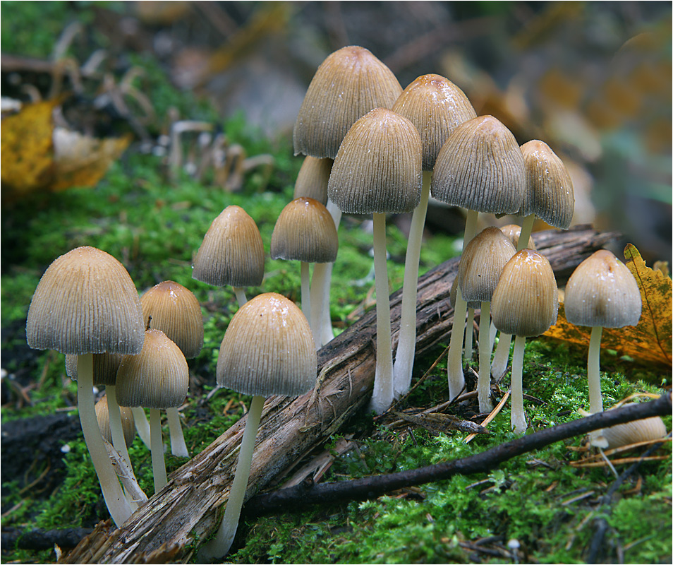
[[[394,393],[396,397],[405,394],[411,386],[413,359],[416,355],[416,294],[418,292],[418,263],[420,245],[423,242],[425,214],[428,211],[430,180],[432,173],[423,172],[423,186],[420,203],[411,215],[411,228],[404,259],[404,283],[402,285],[402,307],[399,321],[399,339],[395,352]]]

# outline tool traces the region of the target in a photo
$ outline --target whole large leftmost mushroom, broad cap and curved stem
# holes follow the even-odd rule
[[[98,428],[93,398],[94,353],[135,355],[143,347],[143,311],[133,280],[119,261],[95,247],[56,258],[35,289],[26,339],[33,349],[77,355],[77,402],[85,443],[105,503],[119,527],[131,516]]]

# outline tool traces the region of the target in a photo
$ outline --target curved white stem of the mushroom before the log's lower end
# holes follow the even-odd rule
[[[222,518],[222,524],[217,530],[217,535],[201,548],[198,559],[221,559],[229,552],[231,544],[234,542],[238,529],[238,518],[241,517],[241,507],[245,499],[245,491],[248,489],[255,437],[257,436],[257,428],[260,426],[264,400],[263,396],[253,396],[253,401],[250,403],[248,421],[245,422],[245,430],[243,430],[243,439],[236,463],[236,474],[234,475],[234,482],[231,483],[231,489],[229,489],[229,499],[226,501],[224,518]]]

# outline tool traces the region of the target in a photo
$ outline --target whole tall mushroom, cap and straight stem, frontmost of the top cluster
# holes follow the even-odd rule
[[[329,175],[327,195],[342,212],[373,214],[376,286],[376,374],[372,408],[393,401],[390,303],[386,265],[386,213],[410,212],[420,201],[422,148],[416,127],[384,108],[348,130]]]

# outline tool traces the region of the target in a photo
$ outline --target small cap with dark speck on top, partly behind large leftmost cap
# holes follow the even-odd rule
[[[117,371],[117,402],[120,406],[177,408],[187,396],[187,359],[164,332],[147,330],[138,355],[126,355]]]

